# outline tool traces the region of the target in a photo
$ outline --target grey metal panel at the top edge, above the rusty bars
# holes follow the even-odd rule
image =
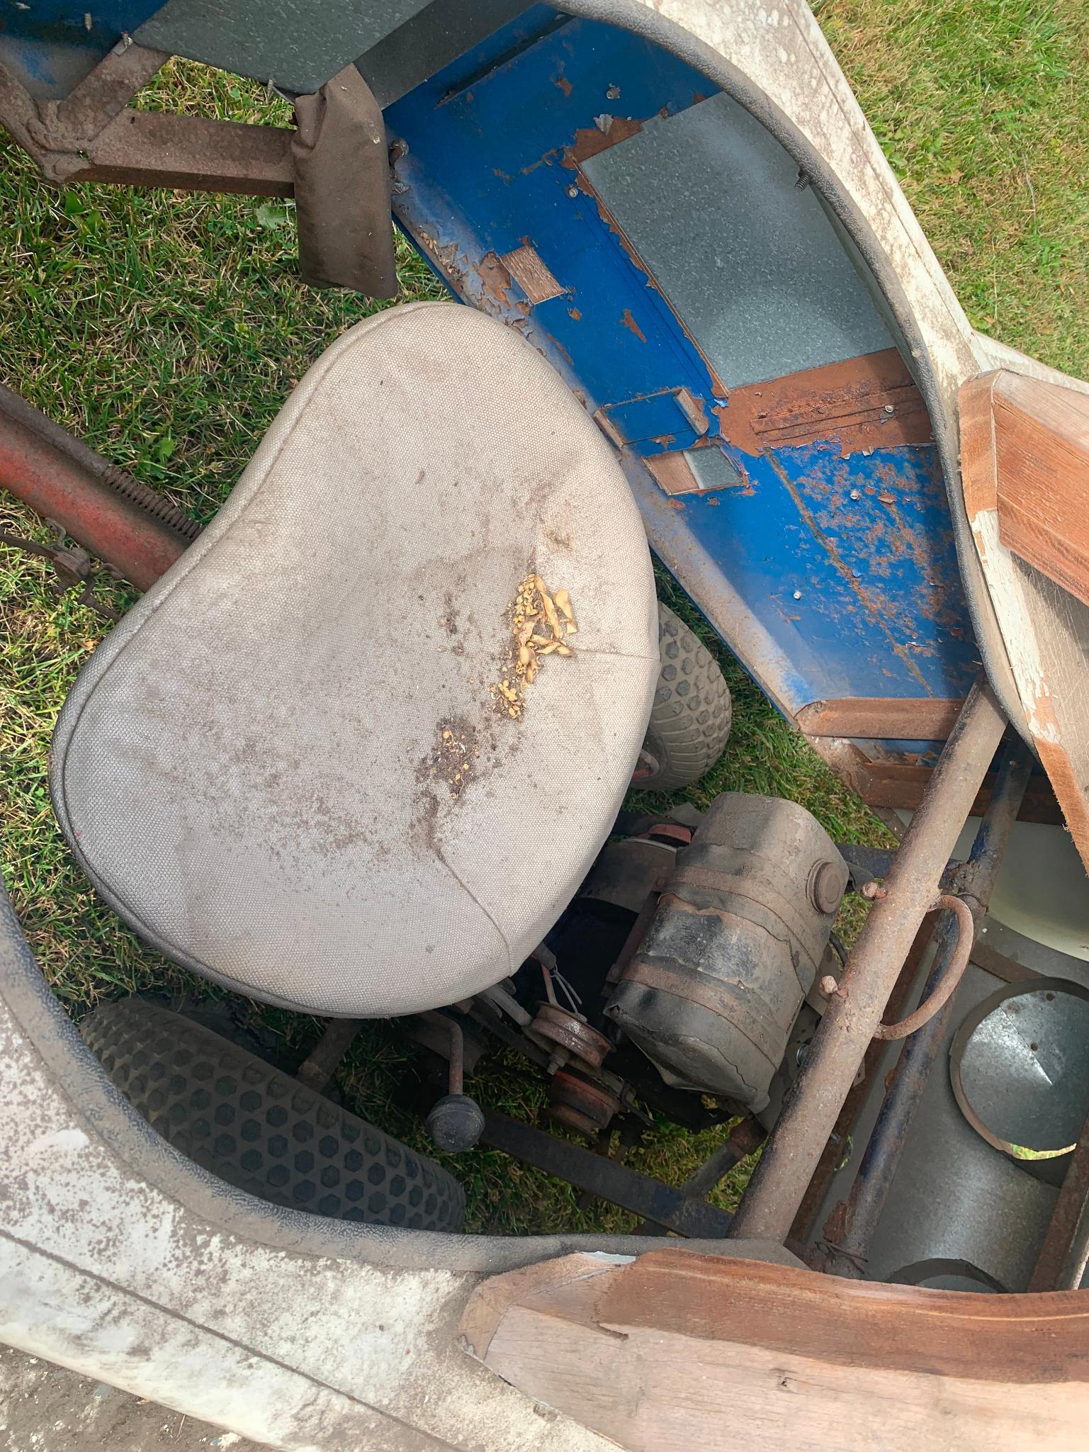
[[[167,0],[134,39],[309,93],[425,6],[427,0]]]

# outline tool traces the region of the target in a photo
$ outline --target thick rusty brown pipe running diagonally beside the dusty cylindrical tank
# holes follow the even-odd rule
[[[977,682],[889,870],[884,896],[874,903],[813,1035],[794,1093],[733,1217],[732,1236],[781,1244],[790,1233],[1005,729],[990,687]]]

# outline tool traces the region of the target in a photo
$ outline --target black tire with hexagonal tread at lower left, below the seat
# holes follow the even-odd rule
[[[460,1230],[465,1195],[434,1160],[182,1013],[121,999],[80,1032],[134,1109],[229,1185],[331,1220]]]

